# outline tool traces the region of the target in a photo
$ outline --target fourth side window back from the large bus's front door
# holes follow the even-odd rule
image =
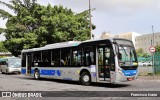
[[[52,50],[51,66],[60,66],[60,49]]]

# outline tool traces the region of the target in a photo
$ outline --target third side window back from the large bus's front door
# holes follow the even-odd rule
[[[70,49],[69,48],[64,48],[61,49],[61,66],[69,66],[70,65]]]

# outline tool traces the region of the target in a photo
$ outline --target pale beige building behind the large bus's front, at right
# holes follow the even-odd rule
[[[102,33],[101,39],[104,38],[110,38],[110,37],[116,37],[116,38],[125,38],[133,41],[133,44],[136,49],[142,48],[146,53],[150,54],[149,48],[151,47],[151,44],[153,43],[153,34],[146,34],[142,35],[136,32],[127,32],[127,33],[120,33],[116,35],[111,35],[110,33]],[[160,44],[160,32],[154,33],[154,46]]]

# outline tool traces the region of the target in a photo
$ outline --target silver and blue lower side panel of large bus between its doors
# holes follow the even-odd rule
[[[79,81],[80,72],[82,70],[88,70],[91,75],[92,82],[96,82],[96,72],[91,72],[89,67],[36,67],[40,72],[40,77],[54,78],[62,80]],[[35,67],[32,67],[31,75],[34,76]]]

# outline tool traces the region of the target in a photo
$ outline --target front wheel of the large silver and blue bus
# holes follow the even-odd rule
[[[91,76],[88,72],[83,72],[80,77],[80,83],[82,85],[90,85],[91,84]]]

